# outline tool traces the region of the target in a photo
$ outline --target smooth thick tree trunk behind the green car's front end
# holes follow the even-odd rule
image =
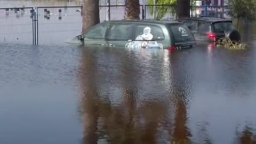
[[[99,0],[84,0],[83,4],[83,33],[100,22]]]

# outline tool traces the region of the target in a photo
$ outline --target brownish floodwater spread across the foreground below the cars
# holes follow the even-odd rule
[[[255,54],[0,44],[0,143],[255,143]]]

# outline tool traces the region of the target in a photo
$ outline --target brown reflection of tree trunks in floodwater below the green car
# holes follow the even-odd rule
[[[129,57],[128,54],[123,54],[120,56],[120,61],[129,62],[123,62],[119,68],[122,102],[113,105],[108,98],[102,99],[103,95],[99,95],[99,87],[102,83],[97,82],[100,82],[101,70],[95,52],[83,51],[78,77],[81,91],[79,114],[84,130],[83,143],[97,143],[99,139],[104,139],[108,143],[158,143],[158,133],[164,131],[161,129],[167,131],[169,135],[167,141],[189,143],[189,131],[186,127],[187,108],[186,103],[183,102],[183,97],[186,95],[179,95],[178,90],[172,93],[176,96],[172,101],[175,105],[175,118],[174,125],[171,126],[169,123],[172,122],[167,118],[169,102],[138,101],[141,96],[139,87],[142,79],[134,75],[140,74],[142,69],[132,65],[137,60]],[[147,92],[143,94],[147,95]],[[162,128],[159,130],[160,125]]]

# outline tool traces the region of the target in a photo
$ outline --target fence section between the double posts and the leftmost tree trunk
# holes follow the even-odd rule
[[[37,7],[37,44],[63,43],[82,31],[81,6]]]

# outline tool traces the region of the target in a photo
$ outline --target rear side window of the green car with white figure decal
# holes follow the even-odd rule
[[[133,39],[162,41],[164,40],[164,33],[159,26],[138,24],[135,26],[135,37]]]

